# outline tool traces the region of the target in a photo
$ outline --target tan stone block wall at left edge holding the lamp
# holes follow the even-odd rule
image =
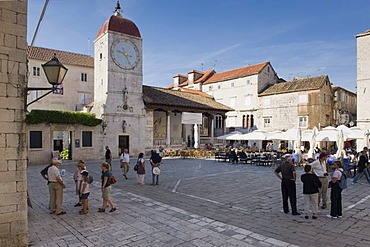
[[[0,2],[0,246],[27,246],[27,1]]]

